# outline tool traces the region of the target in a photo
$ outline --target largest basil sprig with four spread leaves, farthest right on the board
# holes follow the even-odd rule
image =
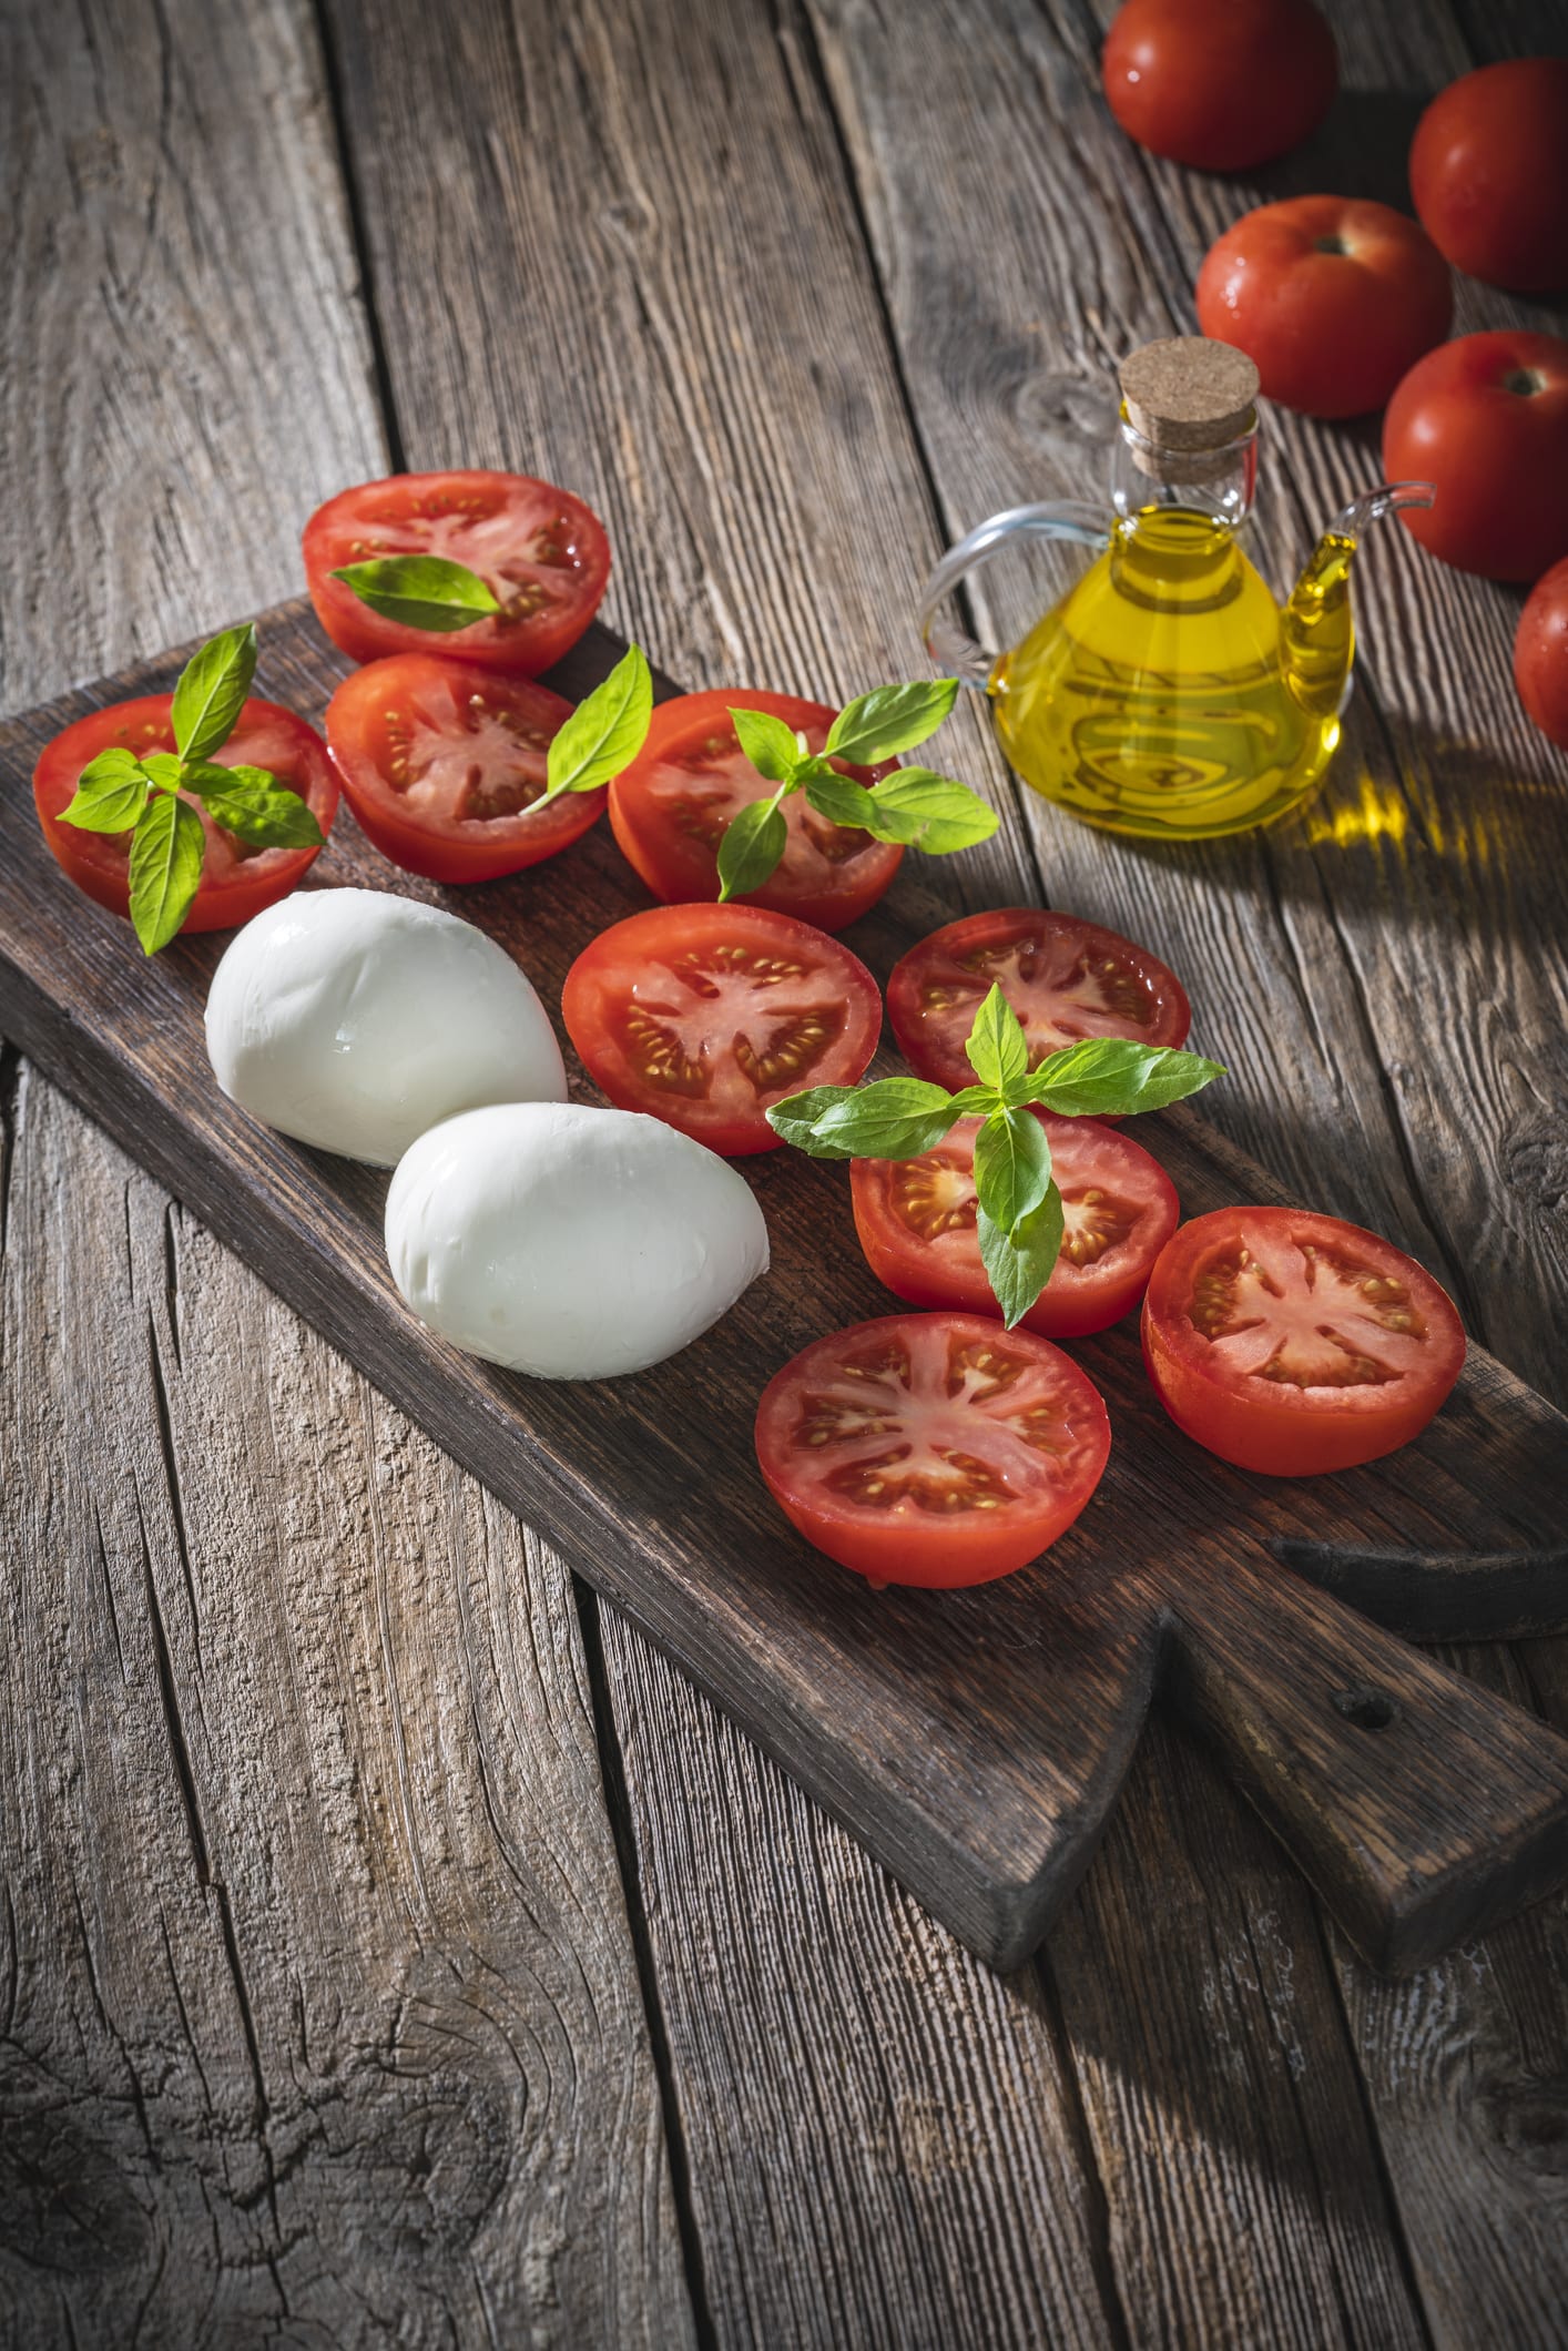
[[[872,1086],[813,1086],[769,1110],[769,1126],[813,1159],[919,1159],[959,1119],[976,1136],[976,1237],[1009,1331],[1044,1291],[1063,1246],[1063,1194],[1051,1143],[1032,1110],[1126,1117],[1164,1110],[1215,1077],[1218,1060],[1131,1037],[1086,1037],[1032,1070],[1018,1013],[992,987],[964,1046],[976,1084],[950,1093],[919,1077]]]

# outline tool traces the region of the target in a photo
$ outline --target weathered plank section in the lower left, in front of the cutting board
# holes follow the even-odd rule
[[[35,1077],[12,1154],[0,2342],[689,2342],[562,1570]]]

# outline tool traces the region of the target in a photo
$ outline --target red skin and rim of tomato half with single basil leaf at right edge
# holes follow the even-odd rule
[[[383,858],[428,882],[496,882],[581,842],[604,813],[602,792],[567,792],[534,818],[524,811],[496,823],[440,820],[409,813],[390,790],[376,757],[376,719],[395,694],[423,679],[449,679],[454,691],[517,696],[538,726],[555,734],[571,717],[571,703],[531,677],[508,679],[477,661],[444,654],[390,654],[367,661],[346,677],[327,703],[327,750],[343,781],[343,797],[360,832]]]

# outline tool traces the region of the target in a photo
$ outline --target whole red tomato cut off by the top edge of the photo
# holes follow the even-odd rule
[[[1246,172],[1319,127],[1338,59],[1312,0],[1126,0],[1100,71],[1138,146]]]

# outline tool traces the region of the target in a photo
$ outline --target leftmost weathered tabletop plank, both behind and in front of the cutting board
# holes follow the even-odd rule
[[[386,444],[310,7],[2,38],[14,705]],[[0,2344],[689,2342],[559,1563],[0,1074]]]

